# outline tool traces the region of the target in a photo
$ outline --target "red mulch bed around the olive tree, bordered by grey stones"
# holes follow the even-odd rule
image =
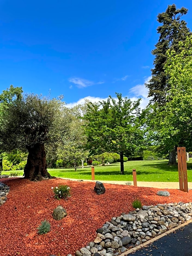
[[[143,205],[157,203],[192,202],[189,193],[168,189],[170,197],[157,196],[157,188],[104,184],[105,194],[97,195],[93,182],[75,182],[51,179],[30,182],[23,178],[1,179],[11,190],[7,202],[0,207],[0,255],[65,256],[84,247],[96,237],[96,229],[105,221],[133,210],[131,203],[137,197]],[[51,187],[67,184],[72,196],[67,200],[54,199]],[[68,215],[53,220],[53,209],[62,205]],[[41,221],[48,220],[51,230],[37,234]]]

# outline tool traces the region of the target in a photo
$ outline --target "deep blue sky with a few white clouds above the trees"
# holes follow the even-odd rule
[[[64,95],[67,103],[122,93],[148,102],[157,14],[188,1],[0,0],[0,93],[13,84],[25,93]]]

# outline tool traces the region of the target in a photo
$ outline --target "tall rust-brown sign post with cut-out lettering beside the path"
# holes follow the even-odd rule
[[[188,192],[187,161],[185,147],[177,148],[177,159],[179,172],[179,190]]]

